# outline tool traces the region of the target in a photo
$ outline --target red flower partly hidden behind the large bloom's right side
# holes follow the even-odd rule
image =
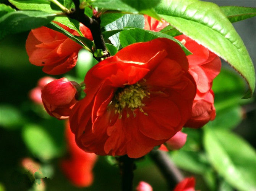
[[[208,121],[214,120],[214,93],[211,89],[213,79],[220,73],[220,58],[196,41],[180,35],[175,37],[183,42],[188,50],[193,53],[188,55],[188,71],[196,81],[196,97],[193,102],[192,116],[185,124],[187,127],[202,127]]]

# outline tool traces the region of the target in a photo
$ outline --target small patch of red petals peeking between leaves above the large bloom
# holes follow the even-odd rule
[[[145,19],[144,29],[146,30],[159,32],[160,30],[164,29],[164,27],[167,27],[169,25],[169,23],[164,20],[160,22],[147,15],[144,15],[144,19]]]

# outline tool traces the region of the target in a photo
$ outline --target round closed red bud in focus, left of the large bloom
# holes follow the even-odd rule
[[[79,84],[74,81],[66,78],[53,80],[42,89],[45,110],[55,118],[68,118],[71,108],[78,102],[80,91]]]

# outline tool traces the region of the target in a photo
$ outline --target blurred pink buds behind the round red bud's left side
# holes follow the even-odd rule
[[[45,76],[41,79],[39,79],[39,81],[37,82],[37,86],[36,88],[31,89],[31,91],[29,92],[29,98],[39,104],[39,105],[43,105],[42,102],[42,89],[44,88],[44,86],[48,83],[50,83],[51,81],[55,80],[55,78],[52,78],[50,76]]]

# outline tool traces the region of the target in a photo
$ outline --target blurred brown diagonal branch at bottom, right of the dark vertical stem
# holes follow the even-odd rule
[[[171,161],[170,157],[164,152],[159,150],[152,150],[149,153],[152,161],[155,162],[160,172],[164,175],[170,190],[173,190],[176,183],[183,180],[183,175],[180,170]],[[173,183],[175,181],[175,183]]]

